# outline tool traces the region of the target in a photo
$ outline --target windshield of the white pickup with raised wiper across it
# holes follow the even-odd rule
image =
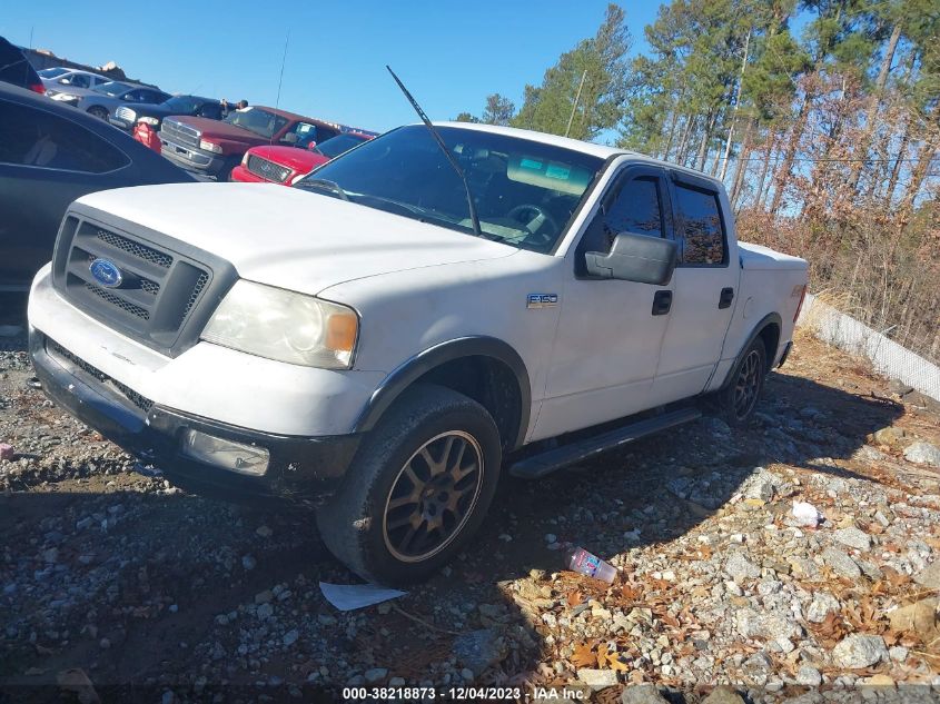
[[[533,251],[552,250],[603,165],[581,151],[517,137],[438,131],[466,175],[483,236]],[[473,234],[463,184],[422,125],[373,139],[297,187]]]

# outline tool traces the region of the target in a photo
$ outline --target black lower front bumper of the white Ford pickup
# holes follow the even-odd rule
[[[46,395],[105,437],[157,466],[179,486],[228,498],[323,499],[339,486],[360,436],[297,437],[249,430],[152,404],[73,357],[30,327],[30,357]],[[182,454],[182,436],[199,430],[264,447],[263,476],[247,476]]]

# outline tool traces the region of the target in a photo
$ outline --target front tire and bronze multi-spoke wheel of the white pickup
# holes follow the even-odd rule
[[[479,528],[501,463],[499,433],[483,406],[417,385],[365,437],[340,489],[317,509],[320,535],[366,581],[420,582]]]

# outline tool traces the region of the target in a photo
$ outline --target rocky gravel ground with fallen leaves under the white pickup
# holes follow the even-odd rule
[[[0,442],[16,452],[0,460],[0,700],[58,701],[63,676],[164,704],[406,684],[627,703],[700,702],[703,684],[730,685],[710,700],[725,703],[860,684],[937,696],[940,416],[808,336],[751,428],[706,417],[506,480],[452,567],[347,613],[318,582],[356,579],[309,513],[136,474],[29,385],[24,347],[0,337]],[[824,519],[801,524],[794,502]],[[568,545],[615,583],[564,572]]]

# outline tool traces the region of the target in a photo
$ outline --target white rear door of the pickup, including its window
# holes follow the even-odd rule
[[[651,405],[705,388],[734,315],[741,275],[724,189],[675,170],[669,186],[680,260]]]

